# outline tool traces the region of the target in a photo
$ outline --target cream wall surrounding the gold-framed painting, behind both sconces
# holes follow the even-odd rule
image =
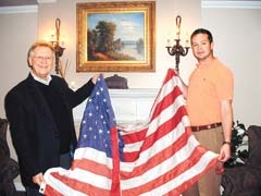
[[[110,1],[110,0],[105,0]],[[105,2],[104,0],[102,2]],[[115,0],[122,1],[122,0]],[[125,0],[126,1],[126,0]],[[69,60],[70,68],[66,74],[69,84],[75,83],[76,87],[80,86],[92,73],[76,73],[76,3],[77,2],[94,2],[76,0],[58,0],[57,3],[42,3],[39,7],[39,38],[45,38],[48,30],[54,27],[54,20],[59,17],[61,23],[61,34],[65,37],[66,49],[62,57],[65,62]],[[99,2],[97,0],[96,2]],[[119,73],[128,79],[129,88],[156,88],[161,85],[166,70],[175,68],[174,57],[167,54],[165,46],[167,36],[175,34],[175,17],[177,14],[183,16],[182,27],[184,35],[190,33],[200,22],[200,0],[157,0],[156,1],[156,73]],[[189,12],[189,15],[186,14]],[[189,57],[190,56],[190,57]],[[182,58],[181,66],[189,68],[191,53],[188,57]],[[104,76],[111,76],[114,73],[104,73]],[[142,82],[137,78],[142,78]]]

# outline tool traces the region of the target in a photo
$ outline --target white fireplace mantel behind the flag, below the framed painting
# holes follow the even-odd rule
[[[156,88],[109,89],[116,122],[137,123],[146,121],[158,90]],[[76,124],[82,121],[86,101],[73,110]]]

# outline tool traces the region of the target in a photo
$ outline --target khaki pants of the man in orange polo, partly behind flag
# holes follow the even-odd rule
[[[216,154],[223,142],[222,127],[192,132],[198,142]],[[215,173],[215,169],[209,171],[198,183],[189,187],[183,196],[220,196],[221,175]]]

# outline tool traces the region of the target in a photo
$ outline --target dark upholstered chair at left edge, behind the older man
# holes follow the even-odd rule
[[[13,180],[18,175],[18,164],[10,158],[7,142],[8,121],[0,119],[0,196],[14,196],[16,191]]]

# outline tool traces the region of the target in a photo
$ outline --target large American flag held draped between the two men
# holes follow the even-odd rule
[[[144,124],[117,126],[104,79],[88,99],[70,170],[45,173],[47,196],[178,196],[216,166],[189,127],[178,76],[169,70]]]

